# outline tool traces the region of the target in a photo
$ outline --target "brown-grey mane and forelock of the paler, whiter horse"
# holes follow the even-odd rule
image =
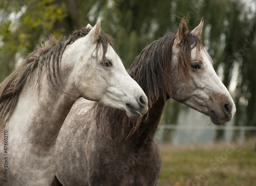
[[[59,39],[50,36],[50,38],[37,45],[35,50],[31,52],[25,60],[18,65],[16,69],[0,84],[0,136],[3,135],[3,129],[9,121],[14,109],[17,105],[20,92],[27,81],[28,76],[38,68],[38,93],[40,92],[40,79],[42,68],[47,69],[48,82],[52,88],[60,93],[67,93],[61,84],[60,61],[66,47],[74,43],[77,39],[85,37],[92,27],[82,28],[74,31],[69,37],[61,36]],[[105,60],[105,54],[109,44],[114,47],[114,39],[109,34],[100,30],[99,39],[95,48],[96,55],[103,48],[102,60]]]

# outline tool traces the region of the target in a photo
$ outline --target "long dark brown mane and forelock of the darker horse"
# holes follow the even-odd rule
[[[106,136],[109,137],[111,146],[117,145],[118,140],[130,138],[139,128],[140,123],[148,117],[150,109],[158,100],[159,96],[163,96],[166,102],[172,98],[171,84],[171,61],[173,54],[174,40],[177,37],[177,31],[174,34],[167,34],[162,38],[152,42],[146,46],[135,58],[128,73],[141,86],[148,98],[149,110],[147,114],[139,119],[131,119],[127,117],[125,111],[106,107],[100,103],[95,103],[93,107],[96,123],[101,124],[107,131]],[[197,57],[203,48],[202,41],[199,37],[190,32],[181,41],[181,48],[178,53],[178,70],[181,78],[185,78],[187,86],[189,86],[189,72],[191,69],[191,49],[197,48]],[[128,134],[128,135],[127,135]]]

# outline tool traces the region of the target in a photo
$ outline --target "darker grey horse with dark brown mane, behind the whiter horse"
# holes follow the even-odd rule
[[[161,154],[155,133],[169,98],[217,125],[233,118],[236,107],[203,47],[202,27],[203,19],[189,32],[183,18],[176,33],[154,41],[135,59],[129,74],[150,107],[143,118],[77,100],[57,139],[59,167],[52,185],[157,185]]]

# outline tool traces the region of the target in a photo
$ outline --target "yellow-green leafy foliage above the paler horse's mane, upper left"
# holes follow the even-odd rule
[[[0,7],[0,15],[4,17],[0,24],[0,79],[3,80],[17,58],[31,52],[40,38],[50,31],[63,33],[63,29],[54,29],[54,23],[62,21],[67,11],[65,3],[56,4],[54,0],[5,0]]]

